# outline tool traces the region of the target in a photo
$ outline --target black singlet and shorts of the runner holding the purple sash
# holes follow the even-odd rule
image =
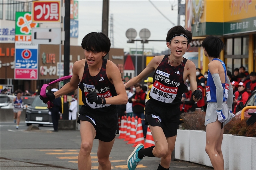
[[[97,105],[94,102],[88,102],[86,95],[90,92],[95,92],[99,97],[105,98],[117,95],[114,85],[110,83],[106,74],[107,61],[107,59],[102,59],[100,72],[96,76],[90,75],[88,64],[85,61],[82,81],[78,85],[82,91],[84,105],[79,111],[77,122],[80,123],[80,120],[91,122],[96,129],[95,139],[104,142],[112,141],[118,134],[116,105]]]

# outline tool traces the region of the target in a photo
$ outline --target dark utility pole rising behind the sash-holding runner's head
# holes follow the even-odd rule
[[[103,0],[101,32],[106,34],[107,36],[108,36],[108,12],[109,12],[109,0]],[[108,54],[104,58],[108,59]]]

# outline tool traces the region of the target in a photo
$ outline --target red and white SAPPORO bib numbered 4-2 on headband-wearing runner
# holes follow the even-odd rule
[[[151,91],[150,96],[155,99],[162,101],[164,103],[172,103],[178,92],[178,87],[165,86],[162,83],[155,81]]]

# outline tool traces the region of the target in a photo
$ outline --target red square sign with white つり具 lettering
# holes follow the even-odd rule
[[[32,22],[60,22],[60,1],[33,1]]]

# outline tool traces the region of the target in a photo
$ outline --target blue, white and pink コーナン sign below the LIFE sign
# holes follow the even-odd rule
[[[14,79],[37,80],[38,44],[15,42]]]

